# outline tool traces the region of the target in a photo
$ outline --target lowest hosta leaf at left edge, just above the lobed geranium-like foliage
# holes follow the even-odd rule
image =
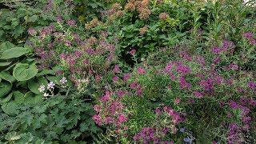
[[[18,104],[15,102],[7,102],[3,104],[1,108],[8,115],[15,115],[19,113]]]

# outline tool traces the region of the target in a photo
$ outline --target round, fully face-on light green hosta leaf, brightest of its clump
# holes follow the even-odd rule
[[[27,81],[34,78],[36,74],[38,74],[38,69],[35,64],[18,63],[14,67],[13,75],[18,81]]]

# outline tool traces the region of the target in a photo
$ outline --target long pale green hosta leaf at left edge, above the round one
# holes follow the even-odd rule
[[[0,59],[18,58],[23,54],[28,53],[30,50],[24,47],[14,47],[2,52]]]

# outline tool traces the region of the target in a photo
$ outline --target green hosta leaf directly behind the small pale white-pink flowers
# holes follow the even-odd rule
[[[28,82],[28,87],[29,89],[34,93],[34,94],[41,94],[40,91],[38,90],[40,85],[47,85],[47,80],[44,77],[38,77],[34,79],[30,79]]]

